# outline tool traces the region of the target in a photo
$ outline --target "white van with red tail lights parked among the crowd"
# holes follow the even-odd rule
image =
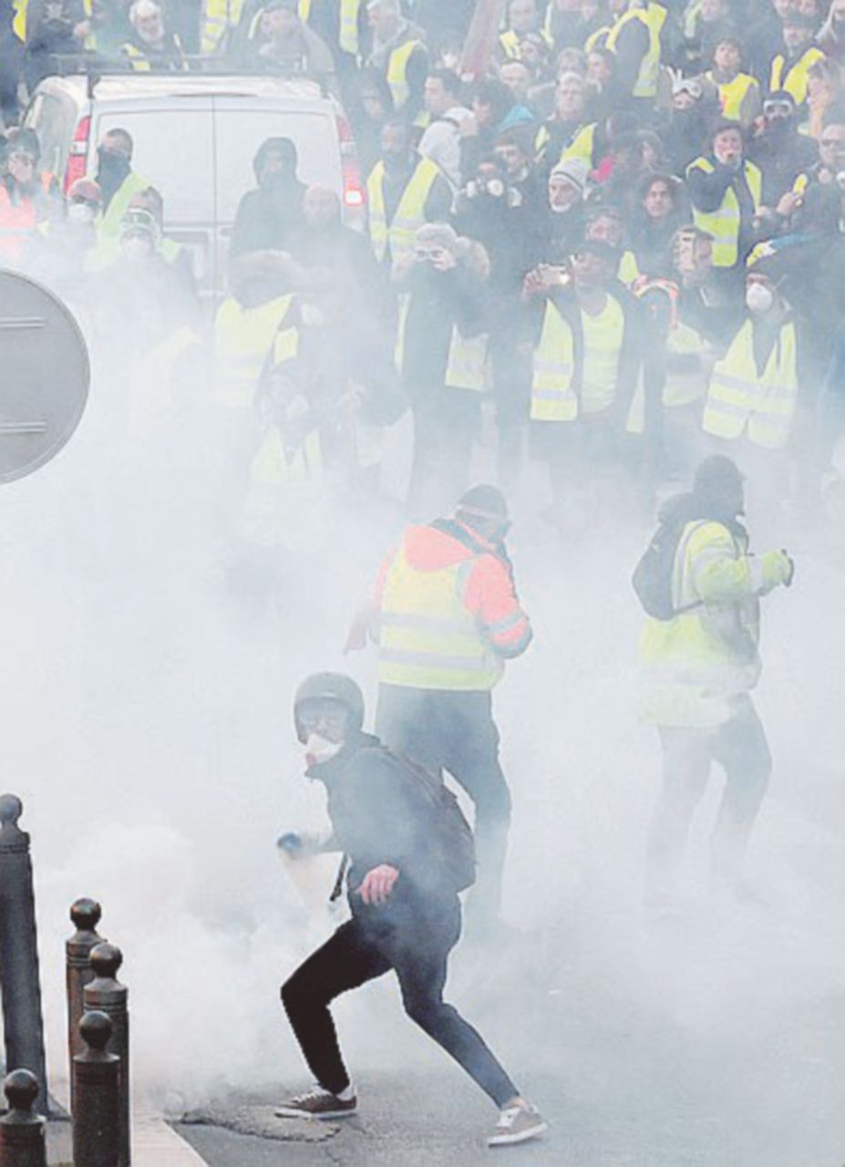
[[[256,186],[252,159],[267,138],[289,138],[299,176],[341,196],[350,226],[363,226],[365,188],[338,102],[306,79],[119,74],[48,77],[23,119],[41,142],[41,167],[71,182],[97,169],[110,130],[132,134],[132,168],[165,200],[168,237],[190,249],[207,294],[225,285],[226,254],[242,195]]]

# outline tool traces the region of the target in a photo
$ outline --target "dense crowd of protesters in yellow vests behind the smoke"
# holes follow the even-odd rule
[[[510,0],[487,30],[483,9],[5,2],[4,261],[126,336],[134,380],[201,368],[251,407],[228,433],[253,531],[282,487],[371,480],[408,411],[418,516],[466,488],[488,413],[500,484],[547,467],[559,530],[585,492],[648,504],[713,450],[812,510],[845,429],[845,4]],[[131,134],[62,190],[19,127],[68,56],[316,79],[352,125],[365,232],[268,139],[211,335]]]

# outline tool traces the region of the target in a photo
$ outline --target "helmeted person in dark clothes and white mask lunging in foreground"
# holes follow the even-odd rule
[[[479,1033],[442,998],[449,951],[461,934],[458,894],[432,862],[426,816],[407,763],[362,732],[364,699],[348,677],[319,673],[299,689],[296,734],[308,776],[326,787],[333,845],[349,861],[351,920],[293,973],[281,999],[316,1089],[277,1109],[282,1118],[355,1112],[329,1004],[394,970],[407,1015],[463,1067],[500,1110],[490,1146],[546,1130]],[[431,823],[431,819],[428,819]],[[289,836],[287,845],[295,843]]]

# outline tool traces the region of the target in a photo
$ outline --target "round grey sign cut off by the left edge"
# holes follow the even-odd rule
[[[0,271],[0,482],[60,452],[89,380],[85,341],[68,308],[26,275]]]

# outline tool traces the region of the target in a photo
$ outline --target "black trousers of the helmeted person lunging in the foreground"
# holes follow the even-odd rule
[[[349,1085],[329,1004],[368,980],[396,972],[405,1012],[502,1107],[517,1088],[481,1035],[444,1001],[446,966],[460,936],[460,907],[432,925],[372,929],[352,918],[300,965],[281,999],[308,1067],[324,1090]]]

